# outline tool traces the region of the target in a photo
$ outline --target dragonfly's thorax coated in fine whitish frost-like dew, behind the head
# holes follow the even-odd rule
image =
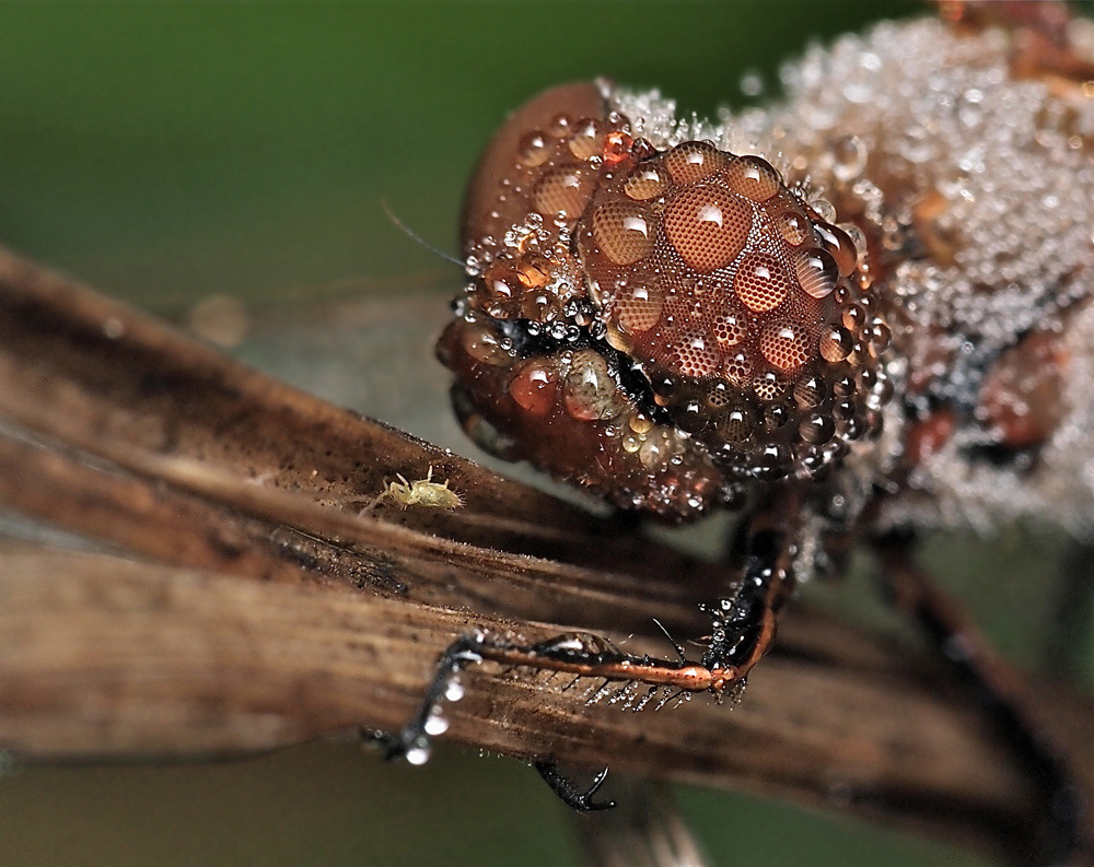
[[[1090,50],[1091,23],[1072,27]],[[1036,517],[1087,534],[1094,98],[1050,78],[1015,80],[1008,39],[958,36],[933,20],[884,23],[811,48],[782,70],[784,102],[722,113],[718,125],[677,120],[656,93],[614,96],[654,145],[709,138],[760,154],[871,238],[875,291],[895,311],[908,370],[905,401],[888,413],[915,421],[944,405],[956,418],[883,520],[987,530]],[[982,459],[999,442],[984,395],[992,365],[1031,333],[1057,340],[1058,418],[1035,454],[997,466]],[[1027,366],[1025,390],[1039,394],[1033,380],[1047,374]],[[1010,411],[1021,422],[1044,408]]]

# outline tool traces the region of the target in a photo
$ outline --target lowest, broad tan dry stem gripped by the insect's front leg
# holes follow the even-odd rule
[[[0,742],[38,759],[178,759],[396,728],[441,647],[475,626],[509,625],[340,587],[8,552]],[[522,623],[519,634],[559,629]],[[990,726],[941,694],[929,664],[882,643],[874,652],[887,670],[873,677],[853,653],[808,665],[772,657],[733,712],[703,701],[643,714],[586,707],[580,689],[487,664],[443,711],[455,739],[514,755],[818,806],[838,790],[853,815],[988,848],[1020,841],[1035,795]]]

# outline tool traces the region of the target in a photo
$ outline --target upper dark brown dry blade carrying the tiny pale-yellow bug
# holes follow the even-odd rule
[[[360,511],[403,473],[432,467],[465,500],[454,512],[388,507],[411,529],[573,562],[662,564],[535,489],[339,409],[163,323],[0,248],[0,412],[74,445],[189,457]]]

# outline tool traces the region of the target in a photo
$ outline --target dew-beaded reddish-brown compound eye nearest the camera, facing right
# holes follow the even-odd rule
[[[577,226],[612,345],[680,430],[763,478],[866,433],[866,395],[836,386],[888,338],[850,279],[850,236],[810,213],[765,160],[685,142],[598,188]]]

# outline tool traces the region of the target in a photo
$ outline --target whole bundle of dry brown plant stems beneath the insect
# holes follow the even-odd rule
[[[478,626],[521,642],[584,628],[657,656],[663,637],[626,631],[653,633],[654,617],[678,634],[709,626],[695,604],[717,584],[711,569],[608,537],[609,523],[4,253],[0,415],[14,425],[0,429],[0,502],[221,573],[7,554],[0,742],[30,758],[233,755],[397,728],[441,651]],[[357,514],[362,494],[430,465],[465,509]],[[399,583],[406,597],[372,591]],[[857,816],[985,848],[1029,833],[1033,787],[990,725],[943,694],[938,665],[831,620],[792,612],[732,713],[585,707],[581,688],[560,693],[545,677],[469,672],[468,698],[446,707],[450,735],[817,806],[838,792]],[[1047,691],[1043,703],[1094,768],[1094,711]]]

